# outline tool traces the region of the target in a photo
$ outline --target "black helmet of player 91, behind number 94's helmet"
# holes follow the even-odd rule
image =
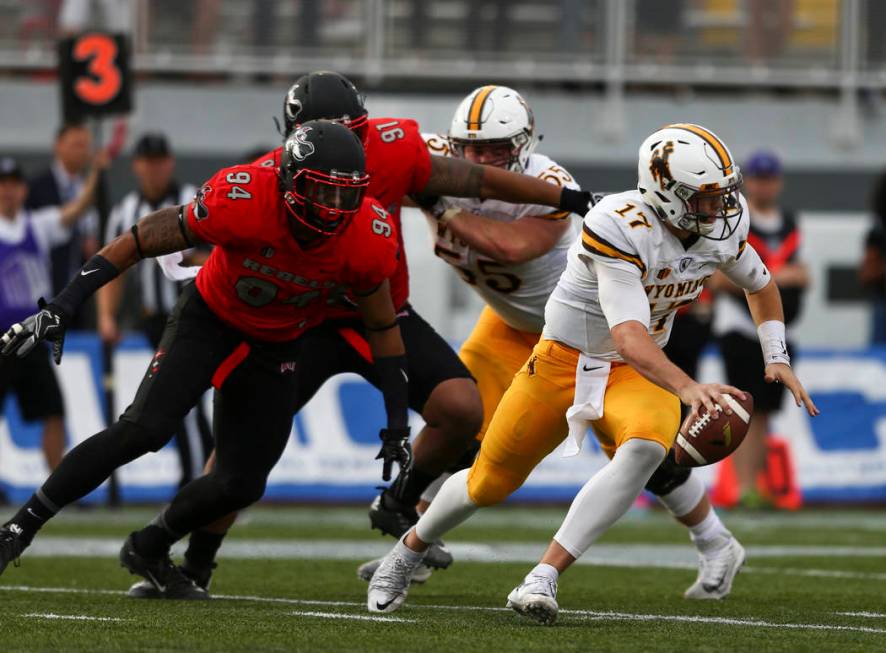
[[[284,135],[308,120],[332,120],[366,142],[369,118],[363,96],[343,75],[319,70],[299,77],[283,100]]]

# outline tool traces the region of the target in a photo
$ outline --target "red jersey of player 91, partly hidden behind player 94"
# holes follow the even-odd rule
[[[254,161],[263,167],[279,167],[277,148]],[[408,118],[373,118],[369,121],[366,142],[366,172],[369,189],[366,194],[375,198],[391,214],[400,246],[397,270],[391,277],[391,297],[400,308],[409,299],[409,269],[406,249],[400,228],[400,203],[404,195],[421,192],[431,176],[431,155],[421,137],[418,123]],[[352,317],[353,309],[333,308],[330,316]]]

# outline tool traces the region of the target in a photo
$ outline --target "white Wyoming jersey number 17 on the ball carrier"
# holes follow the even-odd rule
[[[597,290],[593,261],[639,270],[649,301],[649,335],[664,347],[674,315],[701,294],[715,270],[744,250],[748,208],[726,240],[685,244],[668,231],[637,190],[607,195],[585,216],[582,235],[569,249],[566,270],[545,308],[544,336],[589,356],[620,361]]]

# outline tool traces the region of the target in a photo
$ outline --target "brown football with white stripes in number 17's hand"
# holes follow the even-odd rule
[[[748,424],[754,412],[754,398],[745,392],[745,399],[724,394],[732,408],[732,414],[716,410],[708,414],[702,407],[701,416],[695,420],[687,417],[674,442],[674,456],[678,465],[701,467],[710,465],[738,449],[748,432]]]

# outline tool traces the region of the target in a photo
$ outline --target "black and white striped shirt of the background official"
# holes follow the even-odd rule
[[[144,198],[141,191],[134,190],[124,197],[111,211],[105,229],[105,242],[110,242],[120,234],[126,233],[140,218],[148,213],[167,206],[187,204],[194,199],[197,189],[184,184],[173,184],[166,197],[157,204],[151,204]],[[163,275],[163,270],[153,260],[139,261],[136,265],[138,288],[142,310],[148,315],[168,315],[175,307],[181,283],[170,281]]]

